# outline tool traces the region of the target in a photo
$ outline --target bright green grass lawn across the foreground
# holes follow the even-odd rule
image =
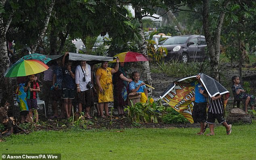
[[[2,153],[61,153],[63,160],[255,160],[256,124],[215,128],[214,136],[195,135],[199,128],[35,131],[0,142]],[[206,130],[206,133],[209,129]]]

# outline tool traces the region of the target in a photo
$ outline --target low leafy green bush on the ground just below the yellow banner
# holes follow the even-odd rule
[[[189,121],[180,113],[169,107],[166,109],[167,114],[162,116],[162,121],[167,124],[188,123]]]

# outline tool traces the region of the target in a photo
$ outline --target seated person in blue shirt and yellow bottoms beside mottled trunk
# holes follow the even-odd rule
[[[141,92],[141,103],[147,103],[147,88],[143,81],[140,80],[138,72],[132,72],[132,82],[129,83],[130,92]]]

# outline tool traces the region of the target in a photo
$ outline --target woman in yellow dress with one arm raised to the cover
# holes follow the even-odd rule
[[[109,102],[113,101],[112,74],[118,72],[119,58],[116,59],[115,68],[108,67],[108,62],[102,62],[96,71],[96,83],[98,86],[99,111],[102,118],[109,117]],[[103,108],[105,115],[103,115]]]

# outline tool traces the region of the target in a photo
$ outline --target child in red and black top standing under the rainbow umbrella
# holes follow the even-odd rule
[[[38,82],[35,82],[35,75],[29,75],[28,76],[29,81],[25,83],[24,91],[27,92],[27,107],[29,109],[29,113],[27,115],[27,118],[25,121],[31,122],[33,113],[32,110],[34,110],[34,117],[36,119],[36,123],[38,123],[38,106],[37,106],[37,94],[36,92],[40,92],[39,84]]]

